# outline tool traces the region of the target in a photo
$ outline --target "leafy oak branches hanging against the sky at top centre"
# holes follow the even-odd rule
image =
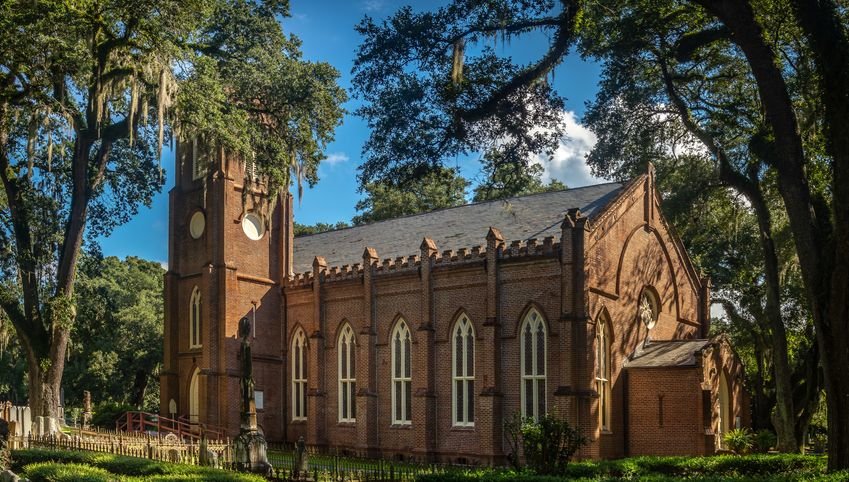
[[[353,79],[371,129],[361,183],[406,184],[462,154],[494,151],[526,166],[530,154],[552,153],[564,102],[545,79],[568,52],[576,13],[566,0],[455,0],[366,17]],[[491,44],[532,30],[552,43],[528,65]]]

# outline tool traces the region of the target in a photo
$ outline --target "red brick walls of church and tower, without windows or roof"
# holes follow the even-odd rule
[[[317,256],[311,272],[293,275],[292,247],[298,240],[291,235],[291,197],[277,201],[268,232],[254,241],[242,232],[243,212],[267,216],[268,211],[257,185],[243,198],[243,167],[223,160],[194,180],[191,149],[179,146],[177,159],[166,275],[164,415],[174,400],[180,415],[238,431],[236,329],[241,317],[255,316],[254,377],[264,402],[258,420],[268,439],[303,436],[309,444],[351,453],[500,462],[507,448],[503,422],[520,412],[523,393],[530,393],[521,388],[532,382],[522,375],[521,344],[531,340],[520,330],[533,318],[541,319],[533,326],[544,330],[544,354],[533,345],[544,366],[534,386],[540,387],[545,410],[566,417],[589,437],[583,457],[711,452],[714,420],[695,423],[693,410],[703,390],[712,397],[718,393],[718,366],[728,373],[734,413],[748,422],[739,362],[727,344],[705,351],[698,367],[623,370],[648,336],[703,338],[708,328],[707,282],[696,275],[660,215],[651,172],[628,183],[590,217],[569,210],[557,237],[505,240],[494,226],[480,233],[480,246],[440,252],[424,233],[409,256],[385,260],[365,240],[361,259],[327,266]],[[199,239],[189,234],[196,210],[206,215]],[[196,286],[202,297],[201,348],[188,341]],[[645,290],[658,301],[650,334],[638,318]],[[474,420],[458,426],[452,409],[452,334],[461,316],[474,330]],[[610,340],[608,430],[600,428],[596,382],[601,316],[608,320]],[[411,417],[409,423],[393,423],[390,337],[402,319],[410,329]],[[346,326],[356,337],[356,415],[340,422],[339,336]],[[307,339],[306,420],[294,420],[292,340],[299,330]],[[661,395],[664,430],[659,431]]]

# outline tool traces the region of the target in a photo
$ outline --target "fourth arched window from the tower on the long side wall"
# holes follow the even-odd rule
[[[454,396],[451,410],[454,425],[475,425],[475,329],[466,315],[454,325],[452,336],[452,378]]]

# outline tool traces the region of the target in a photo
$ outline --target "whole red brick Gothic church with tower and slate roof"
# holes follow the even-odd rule
[[[176,172],[164,416],[238,433],[247,316],[271,441],[499,463],[515,414],[565,417],[585,458],[709,454],[749,423],[651,167],[297,238],[292,197],[237,160],[183,143]]]

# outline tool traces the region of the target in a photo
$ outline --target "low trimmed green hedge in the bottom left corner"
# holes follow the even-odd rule
[[[124,457],[97,452],[67,450],[15,450],[12,470],[32,482],[65,481],[126,481],[153,482],[164,480],[244,481],[262,482],[265,479],[208,467],[172,464],[155,460]]]

